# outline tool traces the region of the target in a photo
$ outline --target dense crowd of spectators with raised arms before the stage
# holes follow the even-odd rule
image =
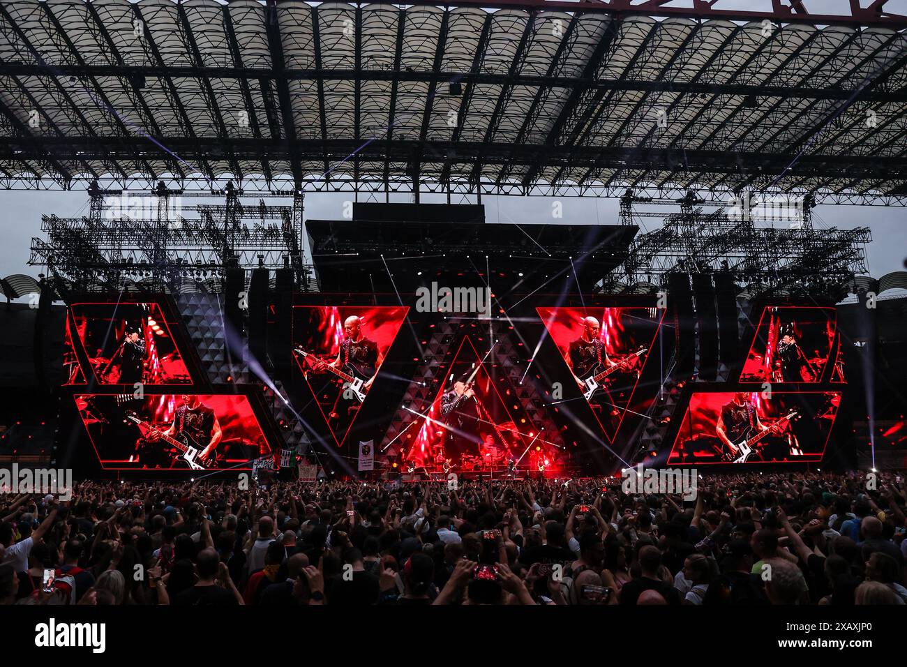
[[[907,603],[900,476],[240,486],[0,495],[0,604]]]

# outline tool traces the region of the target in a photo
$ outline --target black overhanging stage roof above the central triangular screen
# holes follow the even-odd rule
[[[306,221],[323,292],[399,294],[432,281],[492,284],[501,293],[561,284],[592,292],[627,260],[638,231],[636,225]]]

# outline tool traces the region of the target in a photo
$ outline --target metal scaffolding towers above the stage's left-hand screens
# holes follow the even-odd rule
[[[232,184],[221,192],[223,203],[187,204],[183,197],[198,195],[162,183],[150,196],[96,183],[88,194],[88,216],[44,215],[44,239],[32,240],[29,264],[64,289],[219,293],[225,271],[237,267],[293,269],[297,289],[317,291],[303,261],[301,192],[289,206],[244,203]]]

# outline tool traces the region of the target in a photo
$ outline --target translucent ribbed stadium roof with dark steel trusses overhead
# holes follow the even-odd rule
[[[5,0],[0,185],[907,203],[904,17],[666,1]]]

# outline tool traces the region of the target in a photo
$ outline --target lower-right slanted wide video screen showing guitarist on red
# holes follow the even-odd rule
[[[694,393],[668,464],[821,461],[840,404],[833,391]]]

